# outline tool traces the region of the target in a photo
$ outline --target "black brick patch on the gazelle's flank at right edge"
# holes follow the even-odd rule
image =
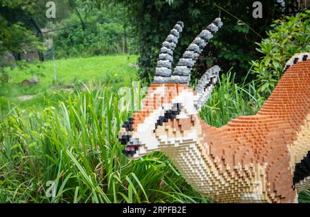
[[[299,183],[300,180],[310,176],[310,151],[307,153],[300,163],[296,163],[295,172],[293,176],[293,188],[296,183]]]

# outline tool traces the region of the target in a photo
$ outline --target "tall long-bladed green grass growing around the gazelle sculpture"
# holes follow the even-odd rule
[[[118,110],[110,87],[62,93],[57,107],[12,109],[0,118],[1,203],[209,203],[187,185],[163,154],[136,161],[122,153],[117,134],[131,112]],[[220,126],[254,114],[264,99],[254,83],[222,75],[201,115]],[[48,197],[49,180],[55,197]],[[302,195],[302,202],[309,195]]]

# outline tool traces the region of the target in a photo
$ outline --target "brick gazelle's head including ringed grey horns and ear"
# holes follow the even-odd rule
[[[214,88],[220,68],[216,65],[207,70],[195,90],[188,86],[189,73],[200,52],[222,25],[217,18],[200,32],[172,72],[173,50],[183,23],[178,21],[174,25],[163,42],[154,81],[143,99],[142,109],[125,121],[118,133],[118,140],[126,145],[123,149],[126,156],[138,158],[154,151],[165,152],[198,139],[198,113]]]

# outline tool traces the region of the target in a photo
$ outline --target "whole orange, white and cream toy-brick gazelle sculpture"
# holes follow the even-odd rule
[[[195,90],[189,72],[212,35],[217,18],[189,45],[172,71],[178,22],[163,43],[156,76],[143,108],[126,121],[118,139],[123,153],[138,158],[164,152],[185,180],[218,203],[296,203],[310,183],[310,57],[296,54],[269,99],[254,116],[223,127],[207,125],[200,108],[220,68],[207,70]]]

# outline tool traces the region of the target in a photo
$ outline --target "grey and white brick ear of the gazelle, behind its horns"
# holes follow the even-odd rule
[[[214,67],[209,68],[205,74],[198,81],[198,84],[195,87],[197,92],[197,96],[195,99],[195,105],[198,111],[200,111],[201,107],[207,102],[209,96],[211,95],[214,85],[218,81],[218,75],[220,74],[220,68],[218,65],[214,65]]]

